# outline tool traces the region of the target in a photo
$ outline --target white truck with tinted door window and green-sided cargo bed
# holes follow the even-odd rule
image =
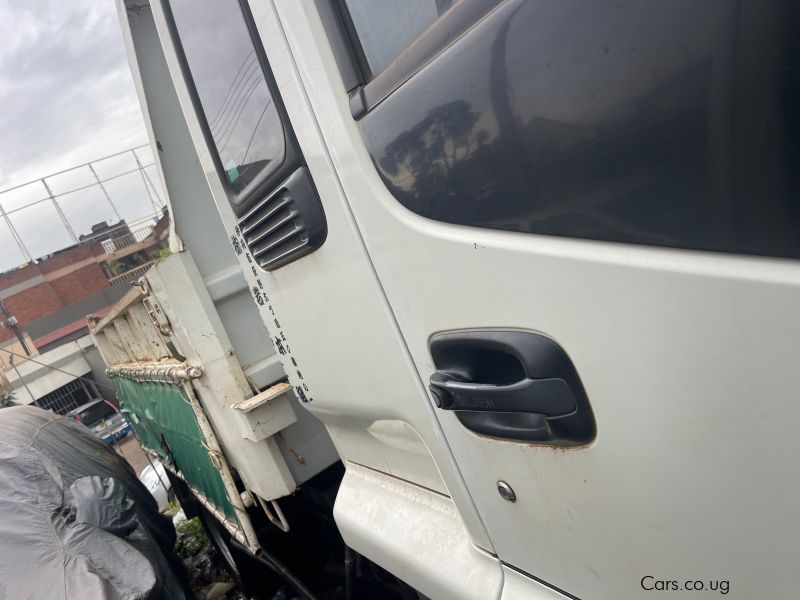
[[[173,255],[93,331],[217,537],[797,597],[797,3],[117,6]]]

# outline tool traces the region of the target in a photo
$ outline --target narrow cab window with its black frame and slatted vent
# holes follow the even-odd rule
[[[162,6],[238,217],[234,251],[269,271],[313,252],[327,237],[325,212],[247,3],[162,0]]]

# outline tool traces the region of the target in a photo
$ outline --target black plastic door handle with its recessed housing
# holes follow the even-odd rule
[[[553,445],[590,442],[594,415],[572,361],[553,340],[520,331],[443,333],[430,342],[437,408],[475,433]]]

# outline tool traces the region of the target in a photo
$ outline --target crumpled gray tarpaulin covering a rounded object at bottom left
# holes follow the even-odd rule
[[[0,600],[182,600],[172,522],[72,419],[0,409]]]

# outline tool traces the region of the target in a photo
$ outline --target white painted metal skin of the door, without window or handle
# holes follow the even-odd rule
[[[431,335],[511,328],[558,341],[586,387],[598,436],[574,450],[437,415],[498,556],[586,598],[641,597],[653,572],[730,578],[731,597],[792,597],[800,265],[413,215],[373,168],[313,6],[277,6],[421,378],[434,370]]]

